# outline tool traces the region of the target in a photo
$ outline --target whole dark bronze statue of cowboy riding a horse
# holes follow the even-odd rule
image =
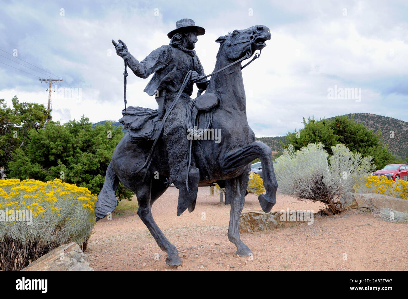
[[[197,35],[204,34],[204,29],[195,26],[191,19],[182,19],[176,25],[177,29],[168,34],[170,44],[154,50],[142,62],[127,51],[121,40],[118,44],[113,42],[135,75],[147,78],[155,73],[144,91],[155,95],[159,109],[131,106],[122,111],[120,122],[127,133],[116,146],[106,170],[95,216],[99,220],[115,209],[116,189],[122,182],[137,197],[137,215],[160,249],[167,252],[166,264],[180,265],[178,250],[155,223],[151,206],[174,182],[179,188],[177,215],[186,208],[192,212],[198,183],[217,182],[226,188],[225,204],[231,204],[228,239],[237,247],[236,254],[252,255],[240,240],[238,230],[251,162],[261,159],[266,194],[258,199],[264,212],[276,203],[277,181],[271,148],[255,141],[248,125],[241,62],[266,47],[271,33],[268,27],[257,25],[217,38],[220,49],[215,69],[211,80],[204,80],[209,75],[205,76],[193,50]],[[200,90],[193,100],[190,96],[194,82]],[[193,125],[204,130],[197,132]],[[202,138],[203,132],[211,129],[220,130],[219,142]],[[192,131],[198,137],[195,140],[187,137]]]

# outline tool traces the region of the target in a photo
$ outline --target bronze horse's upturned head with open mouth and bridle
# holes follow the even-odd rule
[[[222,35],[215,42],[220,42],[228,60],[235,61],[244,57],[246,52],[255,53],[266,47],[265,41],[271,39],[269,28],[264,25],[256,25],[248,29],[237,30]],[[220,46],[221,48],[221,46]]]

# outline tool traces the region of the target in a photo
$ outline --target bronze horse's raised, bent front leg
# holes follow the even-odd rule
[[[276,190],[278,187],[275,171],[273,171],[272,151],[269,146],[263,142],[255,141],[227,152],[222,161],[222,170],[224,173],[230,173],[251,163],[256,158],[261,159],[262,179],[266,190],[266,194],[259,195],[258,200],[262,210],[268,213],[276,203]]]

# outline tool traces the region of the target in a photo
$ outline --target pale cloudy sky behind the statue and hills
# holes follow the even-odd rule
[[[220,35],[258,24],[271,29],[261,57],[243,70],[248,122],[257,137],[302,128],[302,116],[365,112],[408,121],[407,16],[407,1],[1,0],[0,98],[47,105],[48,83],[38,79],[52,73],[63,80],[58,88],[69,84],[82,95],[52,93],[53,120],[84,114],[92,122],[117,121],[124,64],[111,39],[122,39],[142,60],[169,44],[177,20],[192,18],[206,29],[195,50],[207,74]],[[129,71],[129,106],[157,108],[143,92],[150,78]],[[341,99],[342,88],[357,93]],[[338,96],[330,98],[330,89]]]

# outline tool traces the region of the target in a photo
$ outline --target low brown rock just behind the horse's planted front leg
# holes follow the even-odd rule
[[[289,216],[281,217],[283,214],[282,211],[264,213],[262,210],[244,210],[239,219],[239,233],[244,234],[263,230],[274,230],[286,226],[295,226],[307,221],[306,217],[302,220],[299,220],[301,219],[299,217],[292,220]],[[285,214],[289,215],[289,213]],[[313,214],[313,216],[315,215]]]

